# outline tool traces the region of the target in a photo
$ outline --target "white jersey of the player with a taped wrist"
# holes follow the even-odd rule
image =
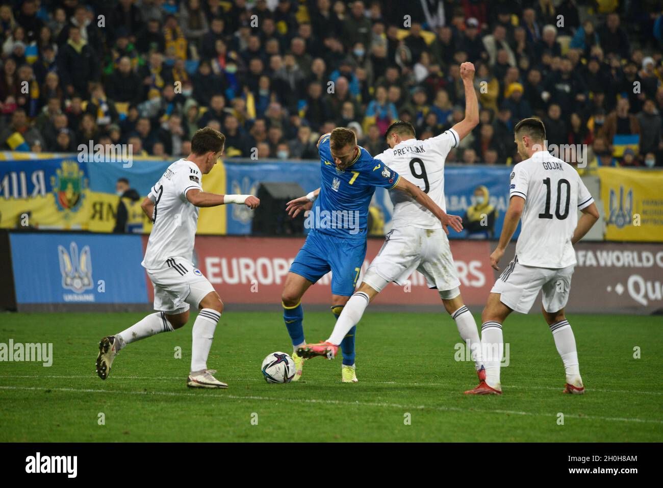
[[[141,263],[146,269],[160,269],[174,257],[193,261],[198,207],[186,200],[186,192],[192,188],[202,191],[201,177],[194,162],[180,159],[152,186],[149,198],[154,202],[154,227]]]

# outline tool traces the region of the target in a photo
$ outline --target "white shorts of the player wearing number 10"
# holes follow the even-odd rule
[[[515,256],[495,281],[491,293],[499,293],[503,304],[526,314],[538,292],[543,290],[542,302],[546,312],[559,312],[569,300],[574,267],[551,269],[524,266],[518,263],[518,256]]]

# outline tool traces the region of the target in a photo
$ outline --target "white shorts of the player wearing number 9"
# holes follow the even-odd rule
[[[367,269],[363,282],[381,292],[392,281],[401,286],[406,284],[407,278],[415,270],[424,275],[428,288],[437,288],[445,300],[460,294],[460,281],[449,239],[443,229],[392,229]]]

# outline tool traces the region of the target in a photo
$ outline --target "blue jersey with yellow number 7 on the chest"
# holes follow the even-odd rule
[[[320,232],[365,239],[369,204],[375,188],[394,188],[400,176],[363,147],[345,170],[333,162],[330,135],[320,141],[320,195],[306,217],[306,227]]]

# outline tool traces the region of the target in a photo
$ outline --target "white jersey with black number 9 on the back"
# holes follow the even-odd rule
[[[375,158],[383,161],[402,178],[424,190],[430,199],[446,212],[444,160],[459,141],[458,133],[449,129],[425,141],[414,138],[402,141],[393,149],[387,149]],[[404,192],[391,190],[389,196],[394,204],[392,228],[408,225],[420,229],[442,228],[442,223],[435,215]]]

